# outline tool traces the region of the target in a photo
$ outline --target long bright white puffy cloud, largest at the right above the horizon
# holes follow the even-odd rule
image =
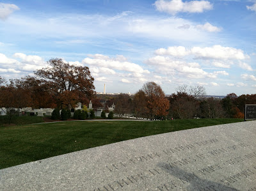
[[[212,47],[193,47],[191,54],[196,58],[202,59],[237,59],[243,60],[248,57],[244,55],[243,50],[232,47],[222,47],[221,45],[214,45]]]

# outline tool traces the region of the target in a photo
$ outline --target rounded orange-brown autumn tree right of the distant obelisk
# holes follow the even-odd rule
[[[161,86],[155,82],[147,82],[143,85],[143,91],[147,98],[147,109],[150,119],[155,116],[166,116],[169,109],[169,101],[165,98]]]

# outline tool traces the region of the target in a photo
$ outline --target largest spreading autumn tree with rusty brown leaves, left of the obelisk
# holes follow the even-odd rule
[[[36,77],[47,81],[59,107],[74,107],[77,102],[88,104],[94,94],[93,77],[87,66],[75,66],[62,59],[50,59],[48,67],[35,71]]]

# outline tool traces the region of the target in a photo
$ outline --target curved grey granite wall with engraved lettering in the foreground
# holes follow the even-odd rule
[[[0,170],[0,190],[255,190],[255,180],[256,121],[142,137]]]

